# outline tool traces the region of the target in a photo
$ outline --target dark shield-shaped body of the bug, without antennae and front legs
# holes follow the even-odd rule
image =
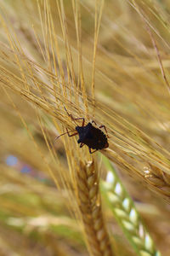
[[[102,125],[102,127],[105,126]],[[99,128],[94,127],[92,123],[88,123],[88,125],[85,126],[77,126],[76,131],[79,135],[77,143],[80,143],[80,148],[82,148],[83,145],[87,145],[90,154],[94,153],[99,149],[109,147],[109,143],[107,141],[105,133]],[[95,150],[92,152],[91,149]]]

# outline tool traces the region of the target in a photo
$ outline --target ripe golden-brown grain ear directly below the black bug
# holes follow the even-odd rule
[[[94,161],[80,162],[77,195],[88,244],[93,255],[111,256],[111,242],[105,227],[99,196],[99,180]]]

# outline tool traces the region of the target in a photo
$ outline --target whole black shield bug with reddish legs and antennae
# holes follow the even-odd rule
[[[71,115],[71,113],[68,113],[66,108],[65,108],[66,113],[71,117],[71,119],[74,121],[74,123],[77,125],[76,120],[80,120],[82,119],[82,126],[77,125],[73,134],[70,134],[71,131],[68,131],[66,129],[67,132],[59,135],[58,137],[56,137],[56,139],[58,139],[60,136],[63,136],[65,134],[68,134],[69,137],[73,137],[76,135],[79,135],[79,139],[77,141],[77,143],[80,143],[80,148],[82,148],[84,145],[87,145],[89,148],[89,153],[93,154],[95,151],[99,150],[99,149],[103,149],[103,148],[108,148],[109,147],[109,143],[107,141],[107,135],[105,135],[105,133],[103,131],[100,130],[100,128],[104,128],[105,129],[105,125],[100,125],[99,128],[94,127],[94,125],[92,125],[92,123],[94,123],[96,125],[96,123],[94,121],[92,121],[91,123],[88,123],[88,125],[84,125],[85,123],[85,119],[84,118],[73,118],[73,116]],[[105,129],[105,132],[107,134],[107,131]],[[92,151],[92,149],[94,149],[94,151]]]

